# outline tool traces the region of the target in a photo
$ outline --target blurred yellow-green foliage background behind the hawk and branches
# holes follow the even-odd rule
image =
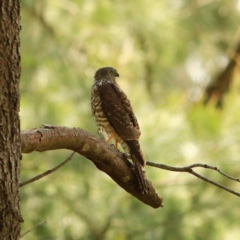
[[[222,112],[198,102],[224,66],[238,29],[237,1],[22,0],[22,129],[43,123],[97,134],[94,72],[113,66],[134,106],[147,160],[202,162],[240,172],[239,73]],[[70,155],[24,155],[21,180]],[[163,209],[131,197],[82,156],[21,189],[24,239],[237,239],[238,198],[187,173],[146,167]],[[237,190],[217,173],[199,173]],[[231,207],[231,208],[230,208]]]

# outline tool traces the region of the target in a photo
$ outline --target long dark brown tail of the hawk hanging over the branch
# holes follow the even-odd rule
[[[142,154],[139,142],[136,140],[130,140],[130,141],[126,141],[126,143],[130,149],[131,158],[134,163],[134,169],[135,169],[140,187],[142,189],[142,193],[146,194],[147,184],[146,184],[144,172],[142,170],[142,168],[145,166],[145,160],[144,160],[144,156]]]

